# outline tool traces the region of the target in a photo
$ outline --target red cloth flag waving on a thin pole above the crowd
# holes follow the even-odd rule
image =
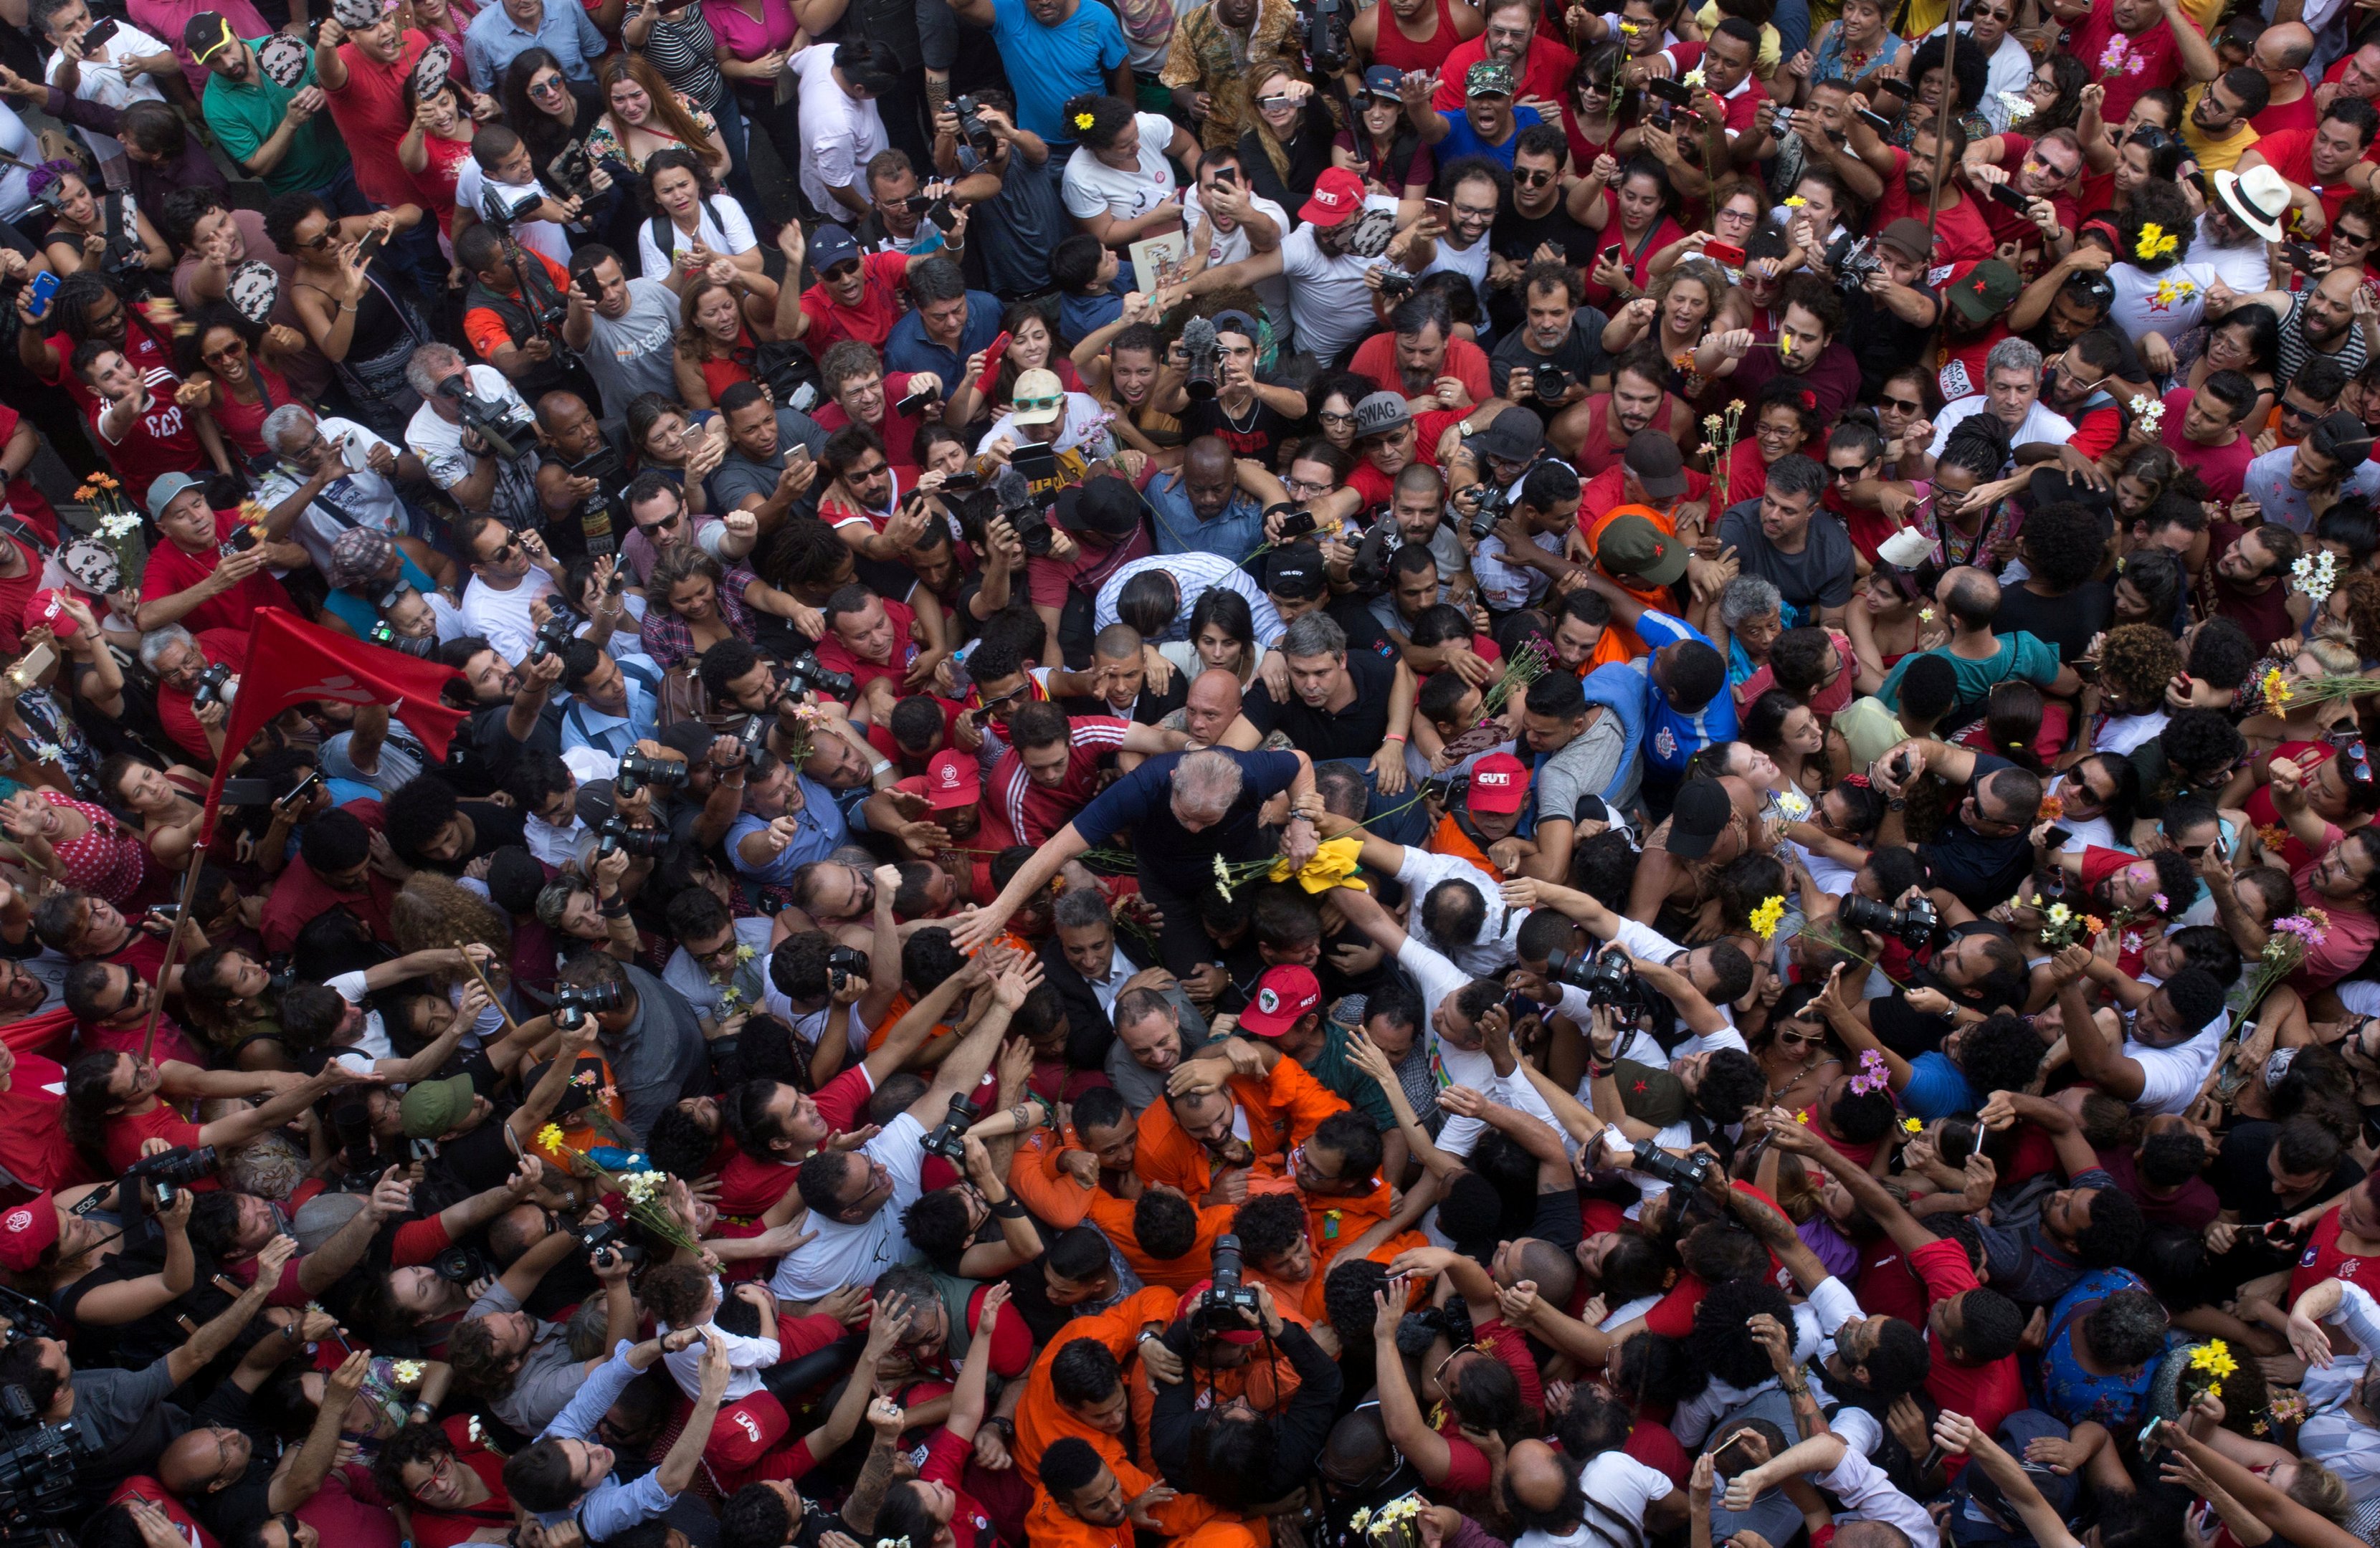
[[[224,725],[226,756],[207,785],[207,823],[200,844],[214,837],[214,808],[224,799],[224,775],[231,751],[264,730],[267,720],[307,699],[336,704],[386,704],[397,720],[421,737],[433,759],[445,759],[447,740],[462,725],[464,711],[438,699],[455,678],[452,666],[421,661],[386,644],[305,623],[278,606],[259,606],[248,630],[248,661],[240,666],[240,697]]]

